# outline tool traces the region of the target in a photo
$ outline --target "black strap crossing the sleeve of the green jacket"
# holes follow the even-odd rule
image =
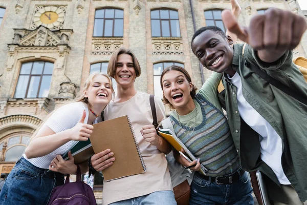
[[[293,90],[290,87],[284,85],[279,80],[277,80],[274,77],[268,75],[268,73],[266,73],[265,71],[262,71],[260,68],[258,68],[257,66],[255,66],[253,64],[250,64],[247,61],[245,61],[245,65],[248,68],[250,68],[254,73],[259,75],[262,79],[265,79],[266,81],[268,81],[268,83],[270,83],[271,85],[275,86],[276,88],[278,88],[282,92],[290,95],[291,97],[294,97],[295,99],[297,99],[301,103],[307,105],[307,98],[305,98],[302,94],[297,93],[296,90]]]

